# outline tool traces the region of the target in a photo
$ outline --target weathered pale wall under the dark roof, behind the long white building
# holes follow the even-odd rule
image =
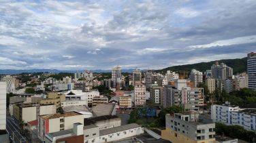
[[[95,125],[99,127],[99,130],[118,127],[118,126],[121,126],[121,118],[97,121]]]

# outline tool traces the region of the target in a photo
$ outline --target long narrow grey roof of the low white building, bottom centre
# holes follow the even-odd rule
[[[120,131],[125,131],[127,129],[134,129],[136,127],[140,127],[140,125],[138,125],[137,123],[131,123],[128,125],[122,125],[122,126],[118,126],[118,127],[112,127],[109,129],[103,129],[101,131],[99,131],[100,136],[104,136],[104,135],[108,135],[108,134],[114,134],[116,132],[120,132]]]

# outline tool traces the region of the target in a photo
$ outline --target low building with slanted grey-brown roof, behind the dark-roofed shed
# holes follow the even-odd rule
[[[116,115],[116,104],[97,104],[92,110],[95,117]]]

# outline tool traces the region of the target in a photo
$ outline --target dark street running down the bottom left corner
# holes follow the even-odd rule
[[[31,142],[29,142],[29,140],[27,140],[27,138],[24,139],[25,137],[23,137],[20,134],[19,129],[17,127],[15,127],[15,125],[13,125],[12,121],[9,121],[9,119],[6,120],[6,129],[9,132],[9,135],[12,136],[12,138],[13,138],[13,132],[14,132],[14,142],[15,143],[20,142],[20,140],[23,143],[31,143]]]

